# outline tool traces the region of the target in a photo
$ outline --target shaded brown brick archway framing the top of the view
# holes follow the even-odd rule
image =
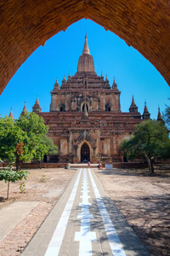
[[[1,93],[37,47],[82,18],[132,45],[170,85],[168,0],[12,0],[0,3],[0,14]]]

